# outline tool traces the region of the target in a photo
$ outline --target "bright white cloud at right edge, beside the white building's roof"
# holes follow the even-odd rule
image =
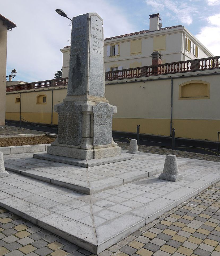
[[[208,25],[200,29],[196,37],[214,56],[219,56],[220,13],[207,18]]]

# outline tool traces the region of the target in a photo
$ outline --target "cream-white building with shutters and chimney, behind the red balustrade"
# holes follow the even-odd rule
[[[159,13],[149,19],[149,30],[104,39],[105,71],[152,65],[154,51],[162,53],[162,63],[213,56],[184,26],[161,27]],[[68,77],[70,46],[61,52],[63,77]]]

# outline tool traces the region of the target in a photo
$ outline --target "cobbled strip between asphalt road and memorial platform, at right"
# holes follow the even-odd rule
[[[119,147],[126,149],[126,150],[129,149],[129,143],[119,142],[119,141],[116,141],[116,142],[118,143]],[[152,146],[145,146],[145,145],[138,145],[138,148],[139,148],[140,152],[145,152],[145,153],[152,153],[152,154],[159,154],[159,155],[172,154],[172,155],[176,155],[179,157],[220,162],[220,157],[213,156],[213,155],[206,155],[206,154],[181,151],[181,150],[170,150],[167,148],[152,147]]]

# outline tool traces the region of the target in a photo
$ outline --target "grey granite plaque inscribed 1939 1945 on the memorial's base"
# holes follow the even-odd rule
[[[108,103],[100,102],[92,107],[93,145],[111,144],[113,108]]]

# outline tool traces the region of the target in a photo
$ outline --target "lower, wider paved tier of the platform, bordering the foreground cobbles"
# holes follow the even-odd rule
[[[10,177],[0,180],[0,205],[100,253],[220,180],[219,163],[188,161],[179,168],[183,179],[176,183],[153,175],[93,195],[10,172]]]

